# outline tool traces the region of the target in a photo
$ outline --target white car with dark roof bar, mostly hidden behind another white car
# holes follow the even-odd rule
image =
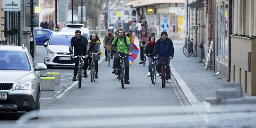
[[[73,32],[75,34],[76,30],[80,30],[83,36],[89,40],[90,32],[88,28],[84,28],[84,24],[67,24],[67,27],[62,28],[61,32]]]

